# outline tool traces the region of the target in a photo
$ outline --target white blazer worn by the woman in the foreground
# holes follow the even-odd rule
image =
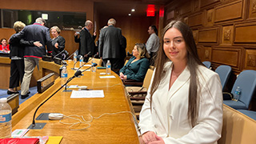
[[[190,71],[186,67],[170,90],[168,89],[172,62],[166,62],[164,71],[166,71],[165,78],[162,78],[158,90],[152,97],[152,110],[150,110],[150,88],[142,106],[139,117],[141,133],[154,131],[166,143],[217,143],[222,134],[223,113],[222,84],[218,74],[205,66],[198,66],[200,102],[197,125],[192,127],[187,116]]]

